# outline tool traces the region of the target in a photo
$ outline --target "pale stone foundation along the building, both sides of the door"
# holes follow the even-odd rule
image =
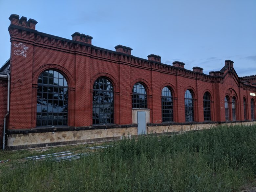
[[[186,124],[186,125],[154,125],[147,126],[147,133],[161,134],[210,129],[217,125],[256,125],[256,121]],[[137,127],[107,128],[75,131],[53,131],[38,133],[9,134],[7,145],[10,149],[24,149],[33,147],[46,147],[64,144],[93,143],[121,139],[123,136],[138,135]]]

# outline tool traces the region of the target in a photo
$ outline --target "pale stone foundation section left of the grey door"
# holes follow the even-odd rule
[[[7,145],[11,149],[23,149],[63,144],[109,141],[114,139],[121,139],[123,136],[130,135],[137,135],[137,127],[92,129],[82,131],[20,133],[8,135]]]

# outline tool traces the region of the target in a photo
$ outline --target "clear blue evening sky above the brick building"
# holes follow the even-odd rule
[[[0,0],[0,66],[10,57],[9,16],[38,21],[36,30],[72,39],[91,35],[92,44],[161,62],[184,62],[192,70],[218,71],[234,61],[239,76],[256,75],[256,0],[29,1]]]

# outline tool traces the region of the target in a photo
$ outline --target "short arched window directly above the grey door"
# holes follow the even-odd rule
[[[133,108],[147,109],[147,93],[140,83],[135,83],[133,86],[132,104]]]

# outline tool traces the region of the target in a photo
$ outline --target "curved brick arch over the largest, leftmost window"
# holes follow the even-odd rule
[[[70,72],[65,69],[64,67],[60,66],[60,65],[56,65],[56,64],[47,64],[44,66],[41,66],[40,68],[38,68],[32,75],[32,83],[33,84],[37,84],[37,80],[39,78],[39,76],[47,70],[54,70],[57,72],[60,72],[62,75],[65,76],[67,82],[68,82],[68,86],[70,88],[74,88],[75,87],[75,80],[73,78],[73,76],[70,74]]]

